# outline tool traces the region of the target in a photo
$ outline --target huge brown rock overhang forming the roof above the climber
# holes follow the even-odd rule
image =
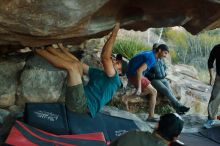
[[[2,0],[0,51],[81,43],[106,35],[116,19],[125,29],[179,25],[195,34],[220,26],[219,9],[216,0]]]

